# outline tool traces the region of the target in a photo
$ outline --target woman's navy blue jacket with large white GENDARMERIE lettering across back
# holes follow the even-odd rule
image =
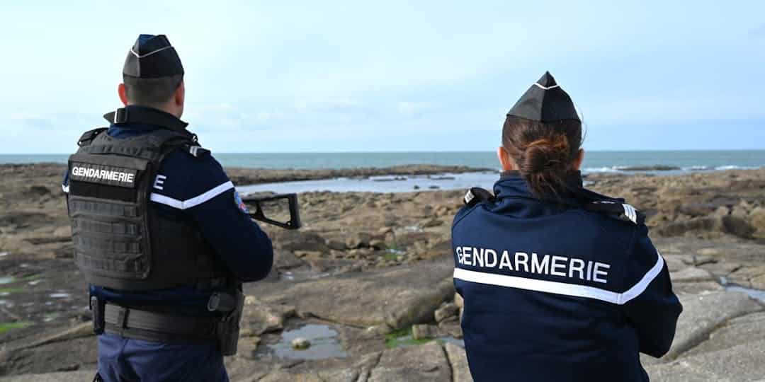
[[[454,218],[454,285],[477,382],[647,381],[682,311],[645,225],[535,198],[518,173]]]

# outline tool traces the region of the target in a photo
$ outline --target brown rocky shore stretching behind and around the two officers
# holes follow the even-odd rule
[[[71,260],[63,170],[0,165],[0,381],[90,380],[96,367],[86,285]],[[469,170],[229,175],[245,185]],[[685,306],[669,354],[643,358],[652,380],[765,378],[765,305],[750,297],[765,290],[765,170],[592,174],[588,181],[646,213]],[[239,353],[226,359],[231,379],[470,380],[449,240],[463,194],[302,193],[304,228],[263,225],[275,267],[246,285]],[[311,345],[295,350],[296,338]]]

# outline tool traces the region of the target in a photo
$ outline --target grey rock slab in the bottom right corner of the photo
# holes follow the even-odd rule
[[[646,367],[657,382],[741,382],[765,378],[765,341]]]

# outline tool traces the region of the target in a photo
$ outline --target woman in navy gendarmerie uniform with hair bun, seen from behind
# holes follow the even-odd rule
[[[503,173],[454,218],[470,372],[484,381],[647,381],[682,306],[644,217],[582,186],[581,121],[545,73],[507,114]]]

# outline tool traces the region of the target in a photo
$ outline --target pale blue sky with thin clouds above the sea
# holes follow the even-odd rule
[[[71,3],[71,4],[70,4]],[[493,151],[549,70],[588,150],[765,149],[765,2],[6,2],[0,154],[74,151],[166,34],[213,152]]]

